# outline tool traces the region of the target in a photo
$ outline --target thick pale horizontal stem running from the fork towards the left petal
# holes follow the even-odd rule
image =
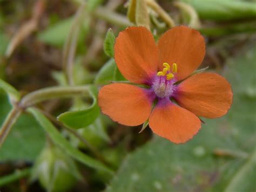
[[[20,104],[22,107],[29,107],[35,105],[38,102],[53,99],[74,97],[76,95],[89,94],[89,86],[56,86],[42,88],[41,90],[33,91],[23,97]]]

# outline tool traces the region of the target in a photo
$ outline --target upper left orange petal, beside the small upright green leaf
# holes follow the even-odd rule
[[[158,50],[153,35],[143,26],[119,33],[114,59],[123,76],[133,83],[147,84],[157,72]]]

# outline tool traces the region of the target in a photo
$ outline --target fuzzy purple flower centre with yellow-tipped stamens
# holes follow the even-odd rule
[[[170,72],[170,65],[167,63],[164,63],[163,71],[159,71],[157,73],[156,78],[153,81],[152,89],[154,93],[156,93],[157,97],[164,98],[164,97],[170,97],[174,91],[172,80],[174,78],[174,74],[177,72],[177,64],[172,64],[172,72]]]

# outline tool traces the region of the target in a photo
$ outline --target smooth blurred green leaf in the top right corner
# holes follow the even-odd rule
[[[203,19],[231,20],[256,17],[254,2],[228,0],[181,0],[181,2],[191,4]]]

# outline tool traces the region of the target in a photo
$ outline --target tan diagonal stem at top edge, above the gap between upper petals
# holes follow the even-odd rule
[[[146,0],[147,6],[150,6],[154,11],[158,13],[158,15],[164,20],[164,22],[170,27],[173,28],[175,26],[173,19],[168,15],[168,13],[161,8],[155,1]]]

